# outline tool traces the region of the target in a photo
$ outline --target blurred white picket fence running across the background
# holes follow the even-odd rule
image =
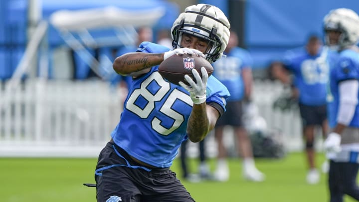
[[[96,157],[119,121],[126,92],[107,82],[32,80],[6,92],[0,85],[1,157]],[[298,112],[272,108],[281,84],[256,81],[254,102],[270,128],[282,131],[286,147],[302,147]],[[213,138],[208,145],[213,156]]]

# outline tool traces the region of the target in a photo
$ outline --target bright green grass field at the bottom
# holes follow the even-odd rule
[[[319,155],[318,162],[323,160]],[[214,161],[209,162],[214,169]],[[195,171],[197,161],[191,159],[189,164]],[[328,202],[325,174],[320,184],[306,184],[303,154],[257,159],[256,164],[267,176],[263,183],[243,180],[240,160],[231,159],[228,182],[183,184],[197,202]],[[95,188],[82,185],[94,183],[96,159],[1,158],[0,165],[0,202],[96,202]],[[181,176],[178,160],[172,170]],[[345,202],[354,200],[347,197]]]

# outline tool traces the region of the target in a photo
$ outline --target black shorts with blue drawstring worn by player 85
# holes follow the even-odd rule
[[[112,165],[115,166],[111,167]],[[99,171],[104,167],[107,168]],[[145,169],[148,168],[134,162],[124,150],[113,143],[107,143],[99,155],[96,166],[97,201],[194,202],[176,174],[169,168],[151,171]]]

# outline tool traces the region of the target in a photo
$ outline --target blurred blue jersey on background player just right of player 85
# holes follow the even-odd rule
[[[230,97],[228,101],[239,101],[244,97],[244,83],[242,70],[250,68],[253,60],[249,52],[243,48],[235,47],[213,63],[213,75],[228,88]]]

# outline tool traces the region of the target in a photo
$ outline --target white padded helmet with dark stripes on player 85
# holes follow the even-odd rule
[[[210,63],[222,56],[228,44],[230,24],[224,13],[208,4],[191,5],[175,20],[172,29],[173,47],[180,48],[183,32],[209,41],[204,52]]]

